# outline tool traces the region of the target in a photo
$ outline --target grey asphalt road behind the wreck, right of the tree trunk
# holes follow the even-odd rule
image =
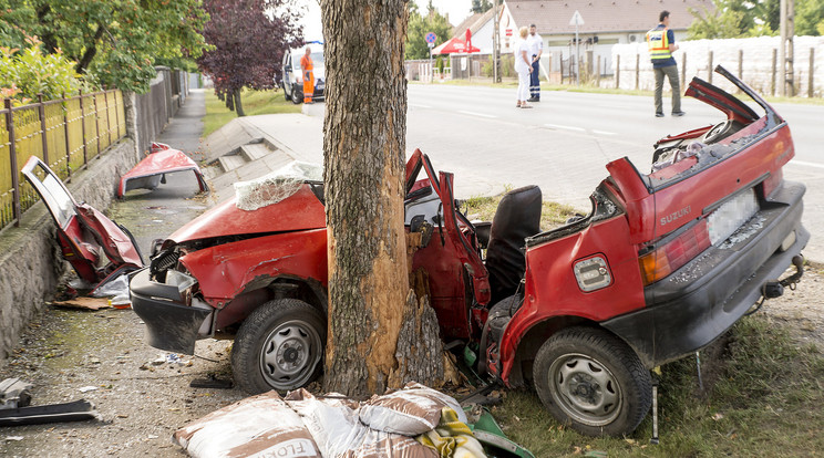
[[[665,94],[666,95],[666,94]],[[483,179],[490,188],[540,186],[544,198],[588,209],[588,196],[607,176],[605,165],[628,156],[649,170],[652,144],[723,121],[715,108],[682,98],[683,117],[653,116],[647,96],[544,91],[533,110],[515,107],[514,89],[452,85],[409,85],[406,147],[420,147],[439,169]],[[813,232],[808,258],[824,261],[824,106],[775,104],[790,124],[795,158],[784,168],[786,179],[807,186],[804,223]]]

